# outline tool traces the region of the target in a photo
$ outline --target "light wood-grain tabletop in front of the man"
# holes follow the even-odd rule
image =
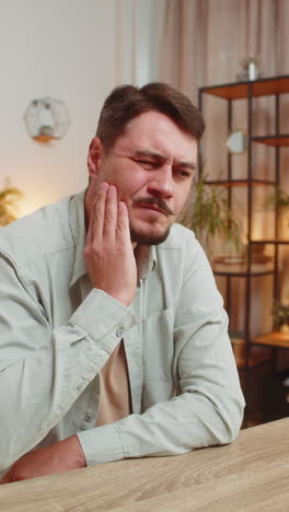
[[[0,510],[289,511],[289,418],[228,446],[127,459],[0,487]]]

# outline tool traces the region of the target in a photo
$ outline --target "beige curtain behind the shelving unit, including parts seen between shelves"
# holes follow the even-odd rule
[[[263,77],[289,74],[289,0],[167,0],[160,46],[160,80],[166,81],[187,94],[195,104],[198,88],[236,81],[241,60],[257,55]],[[274,130],[274,100],[259,98],[254,104],[255,135]],[[224,142],[227,131],[227,105],[222,100],[206,98],[204,115],[207,124],[203,147],[205,170],[211,178],[227,168]],[[281,132],[289,133],[289,94],[281,98]],[[234,102],[233,127],[246,129],[247,115],[244,101]],[[255,148],[257,147],[258,148]],[[281,187],[289,191],[289,148],[280,150]],[[234,177],[246,176],[247,156],[233,158]],[[274,172],[274,150],[254,144],[254,173],[256,177],[270,178]],[[263,188],[263,187],[258,187]],[[259,194],[258,190],[257,194]],[[242,196],[243,194],[243,196]],[[235,198],[240,208],[240,222],[246,217],[245,191]],[[262,195],[256,197],[261,206]],[[257,211],[258,236],[270,235],[268,222],[262,223]],[[289,233],[288,233],[289,237]],[[289,301],[289,253],[282,251],[280,260],[281,296]],[[253,331],[270,329],[270,303],[266,300],[269,283],[264,280],[255,286]],[[234,328],[242,329],[244,294],[240,280],[235,287],[233,309]]]

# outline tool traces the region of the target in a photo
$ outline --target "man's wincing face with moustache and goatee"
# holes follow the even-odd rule
[[[95,159],[94,144],[90,158]],[[131,242],[155,245],[169,235],[187,199],[197,161],[197,142],[167,116],[154,110],[134,118],[107,152],[101,146],[90,187],[117,187],[128,207]]]

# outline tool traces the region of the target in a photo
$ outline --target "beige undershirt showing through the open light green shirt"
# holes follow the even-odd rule
[[[135,256],[139,280],[149,271],[151,263],[149,246],[141,246]],[[95,426],[114,423],[131,412],[128,368],[125,346],[122,340],[100,372],[100,403]]]

